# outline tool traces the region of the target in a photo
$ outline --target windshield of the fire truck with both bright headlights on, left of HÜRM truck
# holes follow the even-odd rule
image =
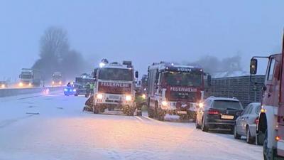
[[[100,80],[133,80],[133,70],[119,68],[101,68],[99,70]]]

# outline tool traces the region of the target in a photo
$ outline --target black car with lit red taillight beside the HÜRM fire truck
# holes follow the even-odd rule
[[[197,107],[196,128],[234,132],[234,124],[243,112],[241,102],[236,98],[208,97]]]

